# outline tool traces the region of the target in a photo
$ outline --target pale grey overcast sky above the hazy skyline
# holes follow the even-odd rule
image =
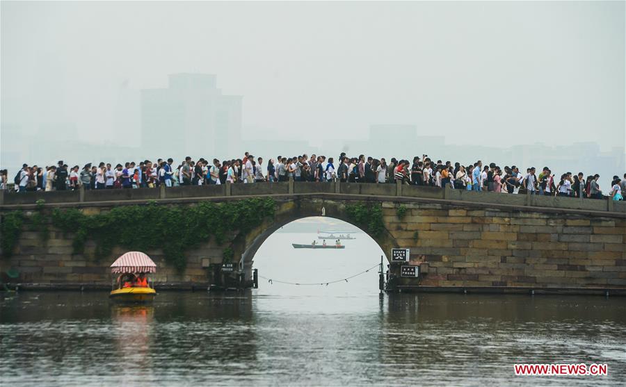
[[[256,137],[397,123],[452,144],[626,141],[623,1],[1,2],[2,124],[97,141],[122,83],[175,72],[243,95]]]

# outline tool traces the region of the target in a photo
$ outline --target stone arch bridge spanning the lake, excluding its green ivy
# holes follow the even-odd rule
[[[234,261],[249,279],[255,252],[275,230],[303,217],[335,217],[360,227],[383,249],[409,248],[408,265],[419,265],[418,279],[399,278],[404,290],[476,289],[488,291],[559,290],[626,293],[626,204],[609,200],[504,195],[399,184],[254,183],[136,190],[0,193],[0,213],[35,208],[80,208],[100,213],[117,206],[157,201],[196,204],[272,197],[274,215],[232,240]],[[45,204],[40,201],[43,199]],[[373,232],[350,208],[380,208]],[[52,229],[44,240],[24,228],[0,272],[13,269],[31,288],[88,288],[109,284],[110,259],[95,261],[88,240],[73,254],[72,240]],[[209,239],[187,253],[184,272],[168,267],[163,252],[148,251],[162,287],[204,287],[214,282],[223,246]],[[5,254],[6,255],[6,254]],[[376,257],[374,257],[376,258]],[[368,261],[370,262],[370,261]],[[399,266],[391,273],[399,276]],[[6,276],[5,276],[6,277]],[[374,286],[374,284],[373,284]]]

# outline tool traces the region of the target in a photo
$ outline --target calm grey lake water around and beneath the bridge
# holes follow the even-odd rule
[[[275,233],[255,257],[258,290],[0,293],[0,385],[560,385],[626,383],[626,299],[378,295],[364,234],[342,251],[294,250]],[[515,377],[513,363],[608,363],[606,377]]]

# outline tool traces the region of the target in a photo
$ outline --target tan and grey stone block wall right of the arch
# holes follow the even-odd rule
[[[579,214],[449,209],[433,219],[433,208],[412,206],[404,224],[396,220],[390,233],[403,238],[414,264],[422,261],[422,287],[510,287],[559,289],[626,288],[626,220]],[[445,208],[445,206],[441,206]],[[463,211],[463,210],[461,210]],[[394,208],[385,208],[385,215]],[[489,216],[486,216],[489,215]],[[427,220],[427,222],[424,222]],[[452,222],[455,231],[441,231]],[[437,231],[432,231],[432,230]],[[440,247],[459,247],[441,249]],[[415,280],[401,279],[401,286]]]

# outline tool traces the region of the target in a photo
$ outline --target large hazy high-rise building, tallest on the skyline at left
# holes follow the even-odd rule
[[[168,88],[142,90],[146,154],[225,158],[241,149],[241,96],[223,95],[211,74],[172,74]]]

